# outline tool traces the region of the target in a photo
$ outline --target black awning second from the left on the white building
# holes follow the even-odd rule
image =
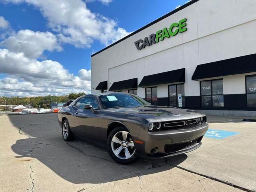
[[[118,91],[122,89],[137,89],[138,88],[138,79],[128,79],[123,81],[114,82],[109,88],[109,91]]]

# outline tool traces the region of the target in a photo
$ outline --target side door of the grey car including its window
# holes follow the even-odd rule
[[[84,109],[85,105],[92,105],[92,109]],[[74,116],[76,132],[75,134],[82,136],[84,138],[88,138],[90,140],[97,141],[97,134],[98,134],[98,126],[99,126],[99,119],[98,119],[98,102],[94,96],[87,96],[81,98],[76,103],[77,111]]]

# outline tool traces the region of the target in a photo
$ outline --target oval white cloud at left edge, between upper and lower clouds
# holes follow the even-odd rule
[[[1,42],[11,52],[24,53],[28,58],[42,56],[44,50],[61,51],[57,38],[51,32],[34,32],[31,30],[20,30],[17,34],[8,37]]]

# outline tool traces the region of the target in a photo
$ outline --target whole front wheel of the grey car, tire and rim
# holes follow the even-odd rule
[[[131,134],[125,127],[116,127],[108,136],[108,152],[120,164],[130,164],[137,159]]]

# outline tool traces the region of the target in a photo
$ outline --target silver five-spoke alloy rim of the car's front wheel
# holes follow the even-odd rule
[[[113,153],[120,159],[129,159],[135,153],[132,136],[127,131],[117,132],[111,140]]]

